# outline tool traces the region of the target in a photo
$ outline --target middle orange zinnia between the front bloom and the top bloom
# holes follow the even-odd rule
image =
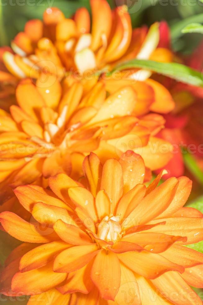
[[[32,183],[41,175],[47,178],[64,172],[78,179],[83,159],[91,151],[97,151],[104,162],[119,158],[131,145],[151,170],[169,161],[170,144],[154,137],[164,126],[162,116],[147,114],[147,106],[143,111],[143,102],[153,99],[147,84],[141,90],[139,84],[115,88],[106,97],[102,82],[83,95],[80,82],[69,87],[63,84],[62,90],[56,77],[45,77],[36,85],[30,79],[22,80],[16,89],[18,106],[10,107],[11,115],[0,110],[0,192],[4,201],[7,191],[9,196],[12,193],[9,186]],[[173,104],[170,96],[168,103]],[[164,150],[168,147],[167,152],[162,153],[162,145]]]

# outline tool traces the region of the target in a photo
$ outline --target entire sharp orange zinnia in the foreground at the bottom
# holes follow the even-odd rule
[[[156,304],[202,304],[189,285],[202,287],[203,254],[184,246],[203,239],[202,214],[183,208],[192,181],[157,186],[161,173],[146,188],[143,159],[132,151],[104,166],[91,153],[83,171],[83,185],[57,174],[53,192],[16,188],[33,218],[0,214],[3,228],[25,242],[7,260],[1,292],[31,294],[30,303],[48,291],[61,303],[123,305],[132,289],[133,304],[153,296]]]

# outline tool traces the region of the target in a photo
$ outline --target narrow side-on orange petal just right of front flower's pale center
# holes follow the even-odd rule
[[[160,253],[171,247],[174,242],[185,241],[187,237],[166,235],[162,233],[145,233],[140,232],[125,235],[121,241],[136,243],[142,248],[152,253]],[[168,257],[168,259],[170,259]]]

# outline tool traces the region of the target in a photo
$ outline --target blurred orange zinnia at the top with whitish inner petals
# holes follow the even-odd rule
[[[20,78],[37,78],[40,71],[55,74],[61,80],[74,71],[83,74],[111,70],[116,63],[133,58],[172,61],[170,50],[157,48],[158,23],[149,31],[147,27],[132,30],[126,6],[111,11],[106,0],[91,0],[90,4],[91,29],[84,7],[76,11],[73,19],[66,19],[57,8],[48,8],[43,21],[28,21],[24,32],[11,42],[12,49],[1,49],[2,84],[13,82],[13,76],[16,83]],[[144,79],[150,75],[144,71]]]

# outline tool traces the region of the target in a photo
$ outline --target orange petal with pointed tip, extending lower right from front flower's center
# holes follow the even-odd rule
[[[155,279],[170,270],[180,273],[184,271],[182,266],[174,264],[156,253],[131,251],[117,254],[117,256],[129,269],[148,279]]]

